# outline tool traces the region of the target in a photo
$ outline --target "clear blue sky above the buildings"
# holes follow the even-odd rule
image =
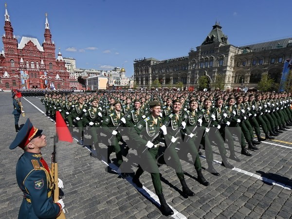
[[[289,4],[274,0],[6,0],[18,43],[44,40],[45,13],[56,48],[77,68],[126,69],[133,60],[188,55],[216,20],[235,46],[292,37]],[[4,25],[4,1],[0,3]],[[2,23],[2,24],[1,24]],[[2,34],[4,33],[4,29]],[[1,34],[1,35],[2,35]],[[3,46],[2,41],[0,46]],[[58,49],[56,49],[56,55]]]

